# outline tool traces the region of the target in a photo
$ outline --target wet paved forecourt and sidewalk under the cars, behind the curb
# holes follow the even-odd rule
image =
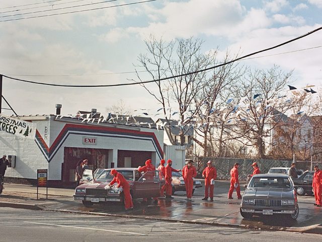
[[[221,186],[222,191],[225,191],[226,184],[223,182]],[[239,214],[240,200],[228,201],[224,193],[215,195],[212,203],[201,200],[202,191],[199,195],[194,195],[192,201],[186,201],[184,193],[178,193],[172,201],[159,199],[157,206],[144,205],[139,200],[134,203],[134,211],[126,214],[124,205],[119,203],[86,208],[81,202],[73,200],[73,189],[48,188],[48,199],[46,199],[46,188],[39,188],[38,192],[37,200],[36,187],[5,184],[5,190],[0,195],[0,206],[322,234],[322,209],[312,206],[313,197],[299,198],[300,214],[294,222],[282,217],[243,219]]]

